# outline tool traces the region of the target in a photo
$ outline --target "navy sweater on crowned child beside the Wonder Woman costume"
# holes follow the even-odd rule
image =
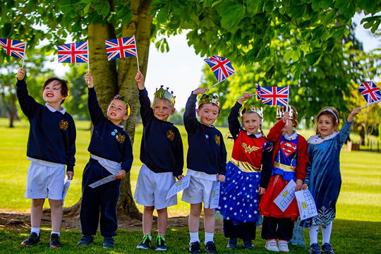
[[[189,97],[184,113],[184,126],[188,133],[188,169],[207,174],[226,172],[226,148],[222,133],[214,126],[200,123],[195,115],[197,95]]]

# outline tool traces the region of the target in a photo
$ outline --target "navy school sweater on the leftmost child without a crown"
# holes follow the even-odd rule
[[[66,165],[73,171],[75,164],[75,124],[65,112],[52,112],[28,95],[25,80],[18,80],[16,93],[20,108],[30,123],[27,156]]]

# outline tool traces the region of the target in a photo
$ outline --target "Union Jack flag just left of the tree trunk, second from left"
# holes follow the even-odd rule
[[[71,42],[59,46],[59,63],[87,63],[89,61],[87,42]]]

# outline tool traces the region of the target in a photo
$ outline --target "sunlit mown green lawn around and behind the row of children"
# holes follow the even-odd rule
[[[28,211],[30,200],[24,197],[26,172],[29,162],[26,159],[26,143],[28,140],[28,121],[16,122],[16,128],[7,128],[8,121],[0,119],[0,209]],[[90,123],[88,121],[75,121],[77,126],[77,152],[75,176],[68,191],[65,206],[75,204],[80,198],[80,184],[83,168],[87,163],[89,154],[87,145],[90,141]],[[187,150],[186,132],[183,126],[179,126],[183,136],[184,157]],[[223,134],[228,133],[227,128],[219,128]],[[312,131],[298,131],[306,138],[313,134]],[[265,130],[265,133],[267,131]],[[135,183],[140,169],[140,140],[142,126],[136,128],[135,143],[133,145],[134,162],[131,169],[131,186],[135,190]],[[224,140],[228,150],[228,158],[231,155],[233,143]],[[345,148],[345,147],[344,147]],[[332,244],[337,250],[336,253],[381,253],[381,154],[372,152],[341,152],[341,174],[342,186],[339,201],[337,203],[337,219],[334,221],[332,234]],[[179,205],[169,208],[169,217],[186,216],[188,214],[188,204],[181,201],[178,195]],[[46,205],[48,207],[48,205]],[[140,210],[142,207],[138,206]],[[169,229],[167,234],[168,253],[186,253],[188,245],[188,229]],[[33,252],[44,253],[47,248],[48,232],[42,233],[41,246],[33,248]],[[116,239],[116,248],[111,253],[135,253],[135,245],[140,241],[141,231],[119,230]],[[308,243],[308,231],[304,231],[306,242]],[[1,253],[26,253],[30,250],[21,248],[15,249],[28,235],[28,231],[11,231],[0,228],[0,252]],[[45,237],[44,237],[45,235]],[[104,251],[102,248],[102,238],[96,238],[97,244],[89,248],[77,248],[79,231],[71,230],[63,232],[63,248],[60,251],[65,253],[87,253]],[[200,234],[203,238],[203,234]],[[176,240],[175,240],[176,239]],[[224,248],[226,239],[222,234],[216,234],[216,242],[219,253],[231,253]],[[264,241],[255,240],[256,253],[267,253]],[[154,250],[152,250],[154,251]],[[149,251],[149,253],[152,253]],[[305,248],[292,247],[293,253],[306,253]],[[136,251],[137,253],[141,253]],[[250,253],[248,250],[236,250],[236,253]]]

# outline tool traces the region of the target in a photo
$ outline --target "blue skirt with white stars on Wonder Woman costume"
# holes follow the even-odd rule
[[[257,222],[260,216],[258,212],[260,172],[246,173],[228,162],[225,178],[221,183],[217,210],[224,219],[232,219],[236,225]]]

